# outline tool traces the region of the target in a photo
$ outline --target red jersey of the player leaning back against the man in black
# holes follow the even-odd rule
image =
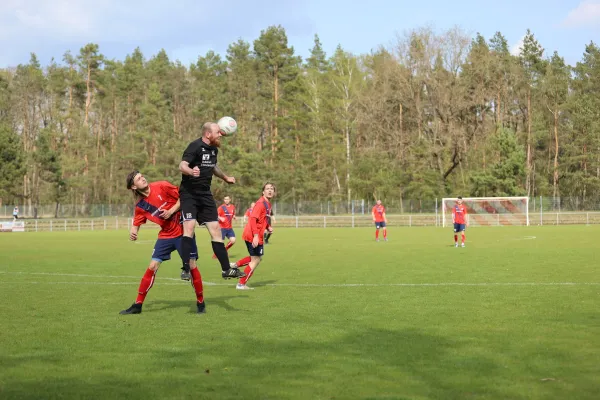
[[[140,199],[135,205],[133,225],[141,226],[146,220],[160,225],[159,239],[172,239],[183,235],[180,211],[169,219],[160,217],[162,210],[169,210],[179,200],[179,188],[167,181],[152,182],[149,187],[148,197]]]

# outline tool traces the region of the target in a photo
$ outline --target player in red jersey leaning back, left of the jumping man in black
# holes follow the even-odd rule
[[[181,255],[181,241],[183,237],[183,226],[181,213],[179,212],[179,188],[166,181],[148,183],[146,178],[139,172],[133,171],[127,176],[127,189],[132,190],[135,198],[135,215],[133,225],[129,231],[129,239],[137,240],[138,231],[142,224],[147,220],[160,226],[158,239],[152,251],[152,260],[148,269],[142,277],[138,296],[135,303],[120,314],[140,314],[142,304],[152,285],[156,272],[163,261],[171,259],[171,253],[175,250],[183,260]],[[196,246],[194,240],[193,246]],[[198,254],[195,250],[194,254]],[[192,286],[196,292],[196,307],[199,314],[205,313],[204,294],[202,288],[202,277],[196,267],[195,256],[190,260],[190,274],[192,277]]]

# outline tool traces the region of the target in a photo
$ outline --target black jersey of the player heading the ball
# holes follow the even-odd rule
[[[181,189],[190,194],[210,192],[213,170],[217,165],[217,154],[219,154],[219,149],[209,146],[202,139],[190,143],[181,159],[187,161],[190,168],[200,168],[200,176],[181,174]]]

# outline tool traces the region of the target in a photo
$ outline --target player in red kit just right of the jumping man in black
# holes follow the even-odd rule
[[[264,255],[263,246],[263,235],[265,230],[272,232],[273,229],[269,225],[268,218],[271,215],[271,199],[275,196],[275,185],[267,182],[263,186],[263,195],[256,201],[252,213],[248,218],[248,223],[244,228],[242,239],[246,242],[248,248],[249,257],[244,257],[235,264],[232,264],[232,268],[241,268],[246,266],[244,269],[245,277],[240,279],[236,285],[238,290],[254,289],[246,285],[248,280],[252,277],[252,274],[258,267]]]

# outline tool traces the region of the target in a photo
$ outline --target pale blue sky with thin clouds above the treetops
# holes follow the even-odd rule
[[[318,34],[330,55],[340,44],[355,54],[424,26],[442,32],[459,26],[471,37],[502,32],[513,50],[527,28],[546,49],[569,64],[590,41],[600,44],[600,0],[504,0],[427,2],[370,0],[1,0],[0,67],[42,64],[98,43],[109,58],[123,60],[140,47],[149,58],[164,48],[184,64],[214,50],[222,55],[239,38],[249,42],[270,25],[282,25],[296,54],[305,57]]]

